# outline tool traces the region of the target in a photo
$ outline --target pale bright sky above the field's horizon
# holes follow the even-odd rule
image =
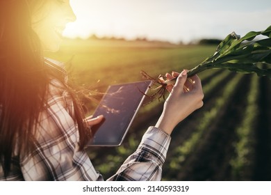
[[[188,43],[244,36],[271,25],[271,0],[70,0],[68,38],[116,37]]]

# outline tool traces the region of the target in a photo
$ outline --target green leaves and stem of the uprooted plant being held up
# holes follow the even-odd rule
[[[258,39],[257,36],[263,36]],[[251,31],[240,38],[229,34],[213,56],[188,70],[188,77],[208,69],[223,68],[234,72],[256,73],[271,79],[271,26],[265,31]]]

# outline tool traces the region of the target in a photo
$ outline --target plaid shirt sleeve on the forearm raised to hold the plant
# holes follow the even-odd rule
[[[126,159],[115,176],[108,180],[161,180],[170,136],[156,127],[149,127],[138,149]]]

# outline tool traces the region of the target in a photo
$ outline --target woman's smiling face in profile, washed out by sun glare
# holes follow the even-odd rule
[[[66,24],[76,20],[69,0],[46,0],[32,13],[32,28],[38,34],[43,49],[58,51]]]

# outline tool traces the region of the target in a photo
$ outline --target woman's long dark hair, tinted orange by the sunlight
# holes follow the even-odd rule
[[[81,149],[90,139],[83,109],[74,90],[58,70],[47,66],[40,40],[31,28],[31,10],[44,0],[8,0],[0,3],[0,164],[10,171],[15,146],[19,154],[33,150],[35,125],[46,104],[50,78],[63,82],[74,100]]]

